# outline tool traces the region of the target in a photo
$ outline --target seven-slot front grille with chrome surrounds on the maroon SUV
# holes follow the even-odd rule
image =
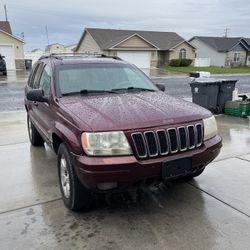
[[[203,127],[198,123],[144,133],[136,132],[131,137],[137,157],[147,158],[200,147],[203,142]]]

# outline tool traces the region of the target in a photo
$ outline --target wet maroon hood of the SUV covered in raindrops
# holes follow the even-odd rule
[[[133,130],[197,121],[211,113],[161,91],[63,97],[82,131]]]

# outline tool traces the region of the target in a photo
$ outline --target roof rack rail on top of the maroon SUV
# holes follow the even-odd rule
[[[96,57],[96,58],[111,58],[115,60],[122,60],[118,56],[107,56],[105,54],[97,54],[97,53],[49,53],[41,56],[40,59],[45,59],[45,58],[55,58],[59,60],[63,60],[65,57]]]

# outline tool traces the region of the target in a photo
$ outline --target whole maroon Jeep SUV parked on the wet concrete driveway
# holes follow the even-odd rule
[[[103,55],[49,55],[25,87],[30,142],[57,154],[64,204],[192,178],[222,146],[214,116],[164,93],[134,65]]]

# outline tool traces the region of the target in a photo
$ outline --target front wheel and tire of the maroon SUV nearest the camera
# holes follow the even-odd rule
[[[64,205],[73,211],[89,210],[93,206],[93,194],[80,183],[64,143],[58,149],[57,167]]]

